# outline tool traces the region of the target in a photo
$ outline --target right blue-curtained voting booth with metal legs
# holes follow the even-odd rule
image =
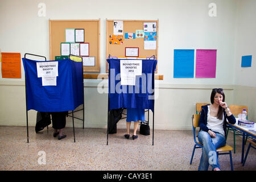
[[[110,56],[109,56],[110,57]],[[142,76],[136,76],[135,85],[121,85],[120,59],[107,59],[109,63],[108,130],[109,111],[119,108],[140,108],[153,113],[152,144],[154,145],[154,89],[157,60],[142,59]],[[123,118],[122,118],[123,119]]]

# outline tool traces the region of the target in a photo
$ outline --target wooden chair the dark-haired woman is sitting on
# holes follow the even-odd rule
[[[196,140],[196,128],[199,127],[199,119],[200,119],[200,114],[193,114],[192,115],[193,138],[194,138],[194,141],[195,141],[195,145],[194,145],[194,148],[193,148],[190,164],[192,164],[195,149],[196,148],[203,148],[203,144],[200,143],[200,142],[197,142],[197,140]],[[223,147],[217,148],[216,151],[217,151],[217,156],[229,154],[230,166],[231,166],[231,170],[233,171],[233,161],[232,161],[232,152],[231,152],[232,150],[233,150],[232,147],[230,147],[228,145],[225,145]],[[219,153],[219,152],[226,152],[226,153]]]

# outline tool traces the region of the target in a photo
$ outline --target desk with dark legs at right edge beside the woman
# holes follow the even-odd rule
[[[256,124],[254,124],[254,128],[247,128],[247,127],[243,127],[243,126],[239,126],[238,125],[238,118],[236,118],[237,122],[232,125],[228,122],[228,126],[233,127],[234,129],[241,131],[243,134],[243,139],[242,139],[242,156],[241,156],[241,163],[243,163],[243,157],[244,157],[244,152],[245,152],[245,136],[249,135],[251,137],[253,137],[254,139],[256,139]],[[254,131],[250,131],[250,130],[254,130]]]

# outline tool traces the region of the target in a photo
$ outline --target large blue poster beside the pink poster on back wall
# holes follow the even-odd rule
[[[194,77],[194,49],[174,49],[174,78]]]

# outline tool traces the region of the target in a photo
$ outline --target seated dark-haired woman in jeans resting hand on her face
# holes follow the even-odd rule
[[[226,144],[227,119],[231,124],[236,123],[236,118],[226,105],[223,89],[212,89],[210,102],[211,105],[202,106],[199,119],[197,137],[203,144],[199,171],[207,171],[209,165],[214,171],[220,171],[216,149]]]

